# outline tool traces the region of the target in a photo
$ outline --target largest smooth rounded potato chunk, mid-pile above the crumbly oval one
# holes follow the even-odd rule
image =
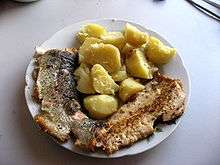
[[[92,44],[88,53],[84,54],[83,61],[90,65],[101,64],[110,73],[118,71],[121,67],[120,52],[111,44]]]

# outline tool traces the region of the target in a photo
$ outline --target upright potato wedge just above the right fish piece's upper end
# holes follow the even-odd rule
[[[128,72],[134,77],[153,78],[151,67],[147,63],[144,53],[139,49],[134,49],[132,54],[126,59],[126,67]]]

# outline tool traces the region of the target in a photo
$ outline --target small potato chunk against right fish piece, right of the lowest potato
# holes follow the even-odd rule
[[[136,82],[132,78],[122,81],[119,87],[119,97],[122,101],[127,101],[132,95],[144,89],[144,85]]]

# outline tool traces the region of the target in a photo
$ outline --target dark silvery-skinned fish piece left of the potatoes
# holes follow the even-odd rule
[[[41,111],[35,121],[59,142],[68,140],[72,132],[86,146],[97,124],[81,112],[73,77],[77,58],[75,49],[52,49],[36,56],[38,74],[33,95],[40,100]]]

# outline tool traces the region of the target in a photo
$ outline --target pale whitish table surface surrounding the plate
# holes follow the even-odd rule
[[[182,54],[192,95],[178,129],[150,151],[119,159],[74,154],[42,135],[24,98],[24,74],[36,45],[75,22],[128,19],[155,30]],[[184,0],[0,2],[0,164],[220,164],[220,24]]]

